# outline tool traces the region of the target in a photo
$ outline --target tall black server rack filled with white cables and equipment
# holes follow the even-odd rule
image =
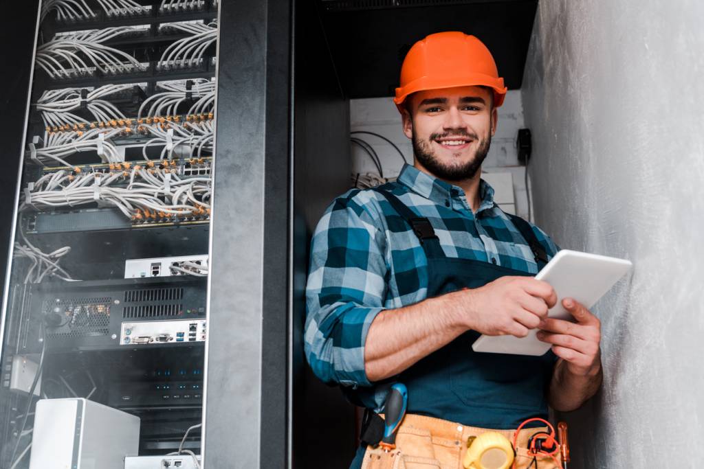
[[[130,456],[200,453],[218,2],[18,7],[0,467],[52,451],[32,438],[38,399],[138,416]]]

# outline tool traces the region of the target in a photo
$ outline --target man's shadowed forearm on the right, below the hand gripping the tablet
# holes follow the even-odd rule
[[[601,362],[588,373],[577,375],[570,372],[567,361],[560,359],[553,371],[548,403],[556,411],[579,409],[587,399],[596,394],[602,380]]]

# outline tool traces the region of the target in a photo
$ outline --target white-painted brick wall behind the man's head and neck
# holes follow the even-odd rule
[[[396,105],[391,98],[353,99],[350,101],[351,130],[366,130],[382,134],[393,141],[401,149],[406,160],[413,164],[413,146],[401,130],[401,114],[396,110]],[[484,172],[509,172],[513,176],[513,194],[515,199],[515,212],[527,218],[528,205],[524,184],[524,167],[518,164],[517,150],[515,148],[518,129],[524,127],[523,105],[520,91],[508,91],[501,108],[498,108],[498,127],[496,135],[491,140],[491,149],[486,156],[482,169]],[[358,134],[353,135],[372,145],[382,161],[384,176],[395,177],[401,171],[403,160],[394,148],[382,139],[375,136]],[[370,158],[358,146],[352,145],[353,172],[372,172],[376,169]],[[489,179],[487,176],[486,179]],[[490,181],[490,184],[494,184]],[[497,183],[498,184],[498,181]],[[497,186],[498,189],[498,186]],[[508,200],[505,195],[499,195],[503,200]],[[504,210],[507,207],[497,201]]]

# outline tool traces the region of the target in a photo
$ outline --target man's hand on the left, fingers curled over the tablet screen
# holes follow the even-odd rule
[[[497,278],[483,287],[456,294],[460,296],[455,301],[463,303],[457,305],[460,321],[486,335],[525,337],[558,301],[549,283],[522,276]]]

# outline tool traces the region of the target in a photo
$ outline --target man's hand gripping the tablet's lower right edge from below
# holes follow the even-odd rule
[[[596,375],[601,370],[599,342],[601,321],[583,304],[565,298],[562,306],[574,316],[576,323],[547,318],[539,324],[539,340],[553,344],[553,352],[567,362],[567,371],[574,375]]]

